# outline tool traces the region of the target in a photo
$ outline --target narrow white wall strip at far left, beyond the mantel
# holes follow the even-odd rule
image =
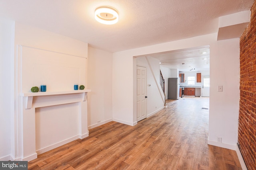
[[[10,160],[14,113],[14,22],[0,21],[0,160]]]

